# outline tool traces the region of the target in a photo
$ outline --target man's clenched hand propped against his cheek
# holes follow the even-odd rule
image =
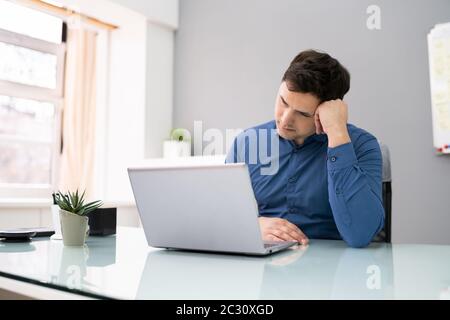
[[[325,101],[317,107],[314,121],[316,133],[328,136],[328,146],[337,147],[350,142],[347,131],[347,104],[341,99]]]

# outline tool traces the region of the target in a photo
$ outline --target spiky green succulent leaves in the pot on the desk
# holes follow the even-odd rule
[[[89,212],[92,212],[103,205],[101,200],[85,204],[84,195],[85,191],[83,191],[81,195],[78,193],[78,190],[75,192],[68,191],[67,193],[58,191],[53,194],[53,199],[60,209],[69,211],[79,216],[85,216]]]

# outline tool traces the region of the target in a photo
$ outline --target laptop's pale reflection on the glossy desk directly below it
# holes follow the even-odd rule
[[[147,255],[136,299],[258,299],[264,268],[299,257],[287,249],[268,257],[154,250]],[[283,262],[284,261],[284,262]]]

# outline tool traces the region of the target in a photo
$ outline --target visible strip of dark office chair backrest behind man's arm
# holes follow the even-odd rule
[[[391,242],[391,214],[392,214],[392,175],[391,175],[391,157],[389,148],[379,141],[381,154],[383,157],[383,175],[382,175],[382,197],[384,207],[384,228],[374,238],[378,242]]]

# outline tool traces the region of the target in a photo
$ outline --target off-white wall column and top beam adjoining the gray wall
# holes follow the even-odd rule
[[[110,0],[147,17],[147,79],[145,158],[162,156],[169,137],[173,110],[174,33],[178,0]]]

